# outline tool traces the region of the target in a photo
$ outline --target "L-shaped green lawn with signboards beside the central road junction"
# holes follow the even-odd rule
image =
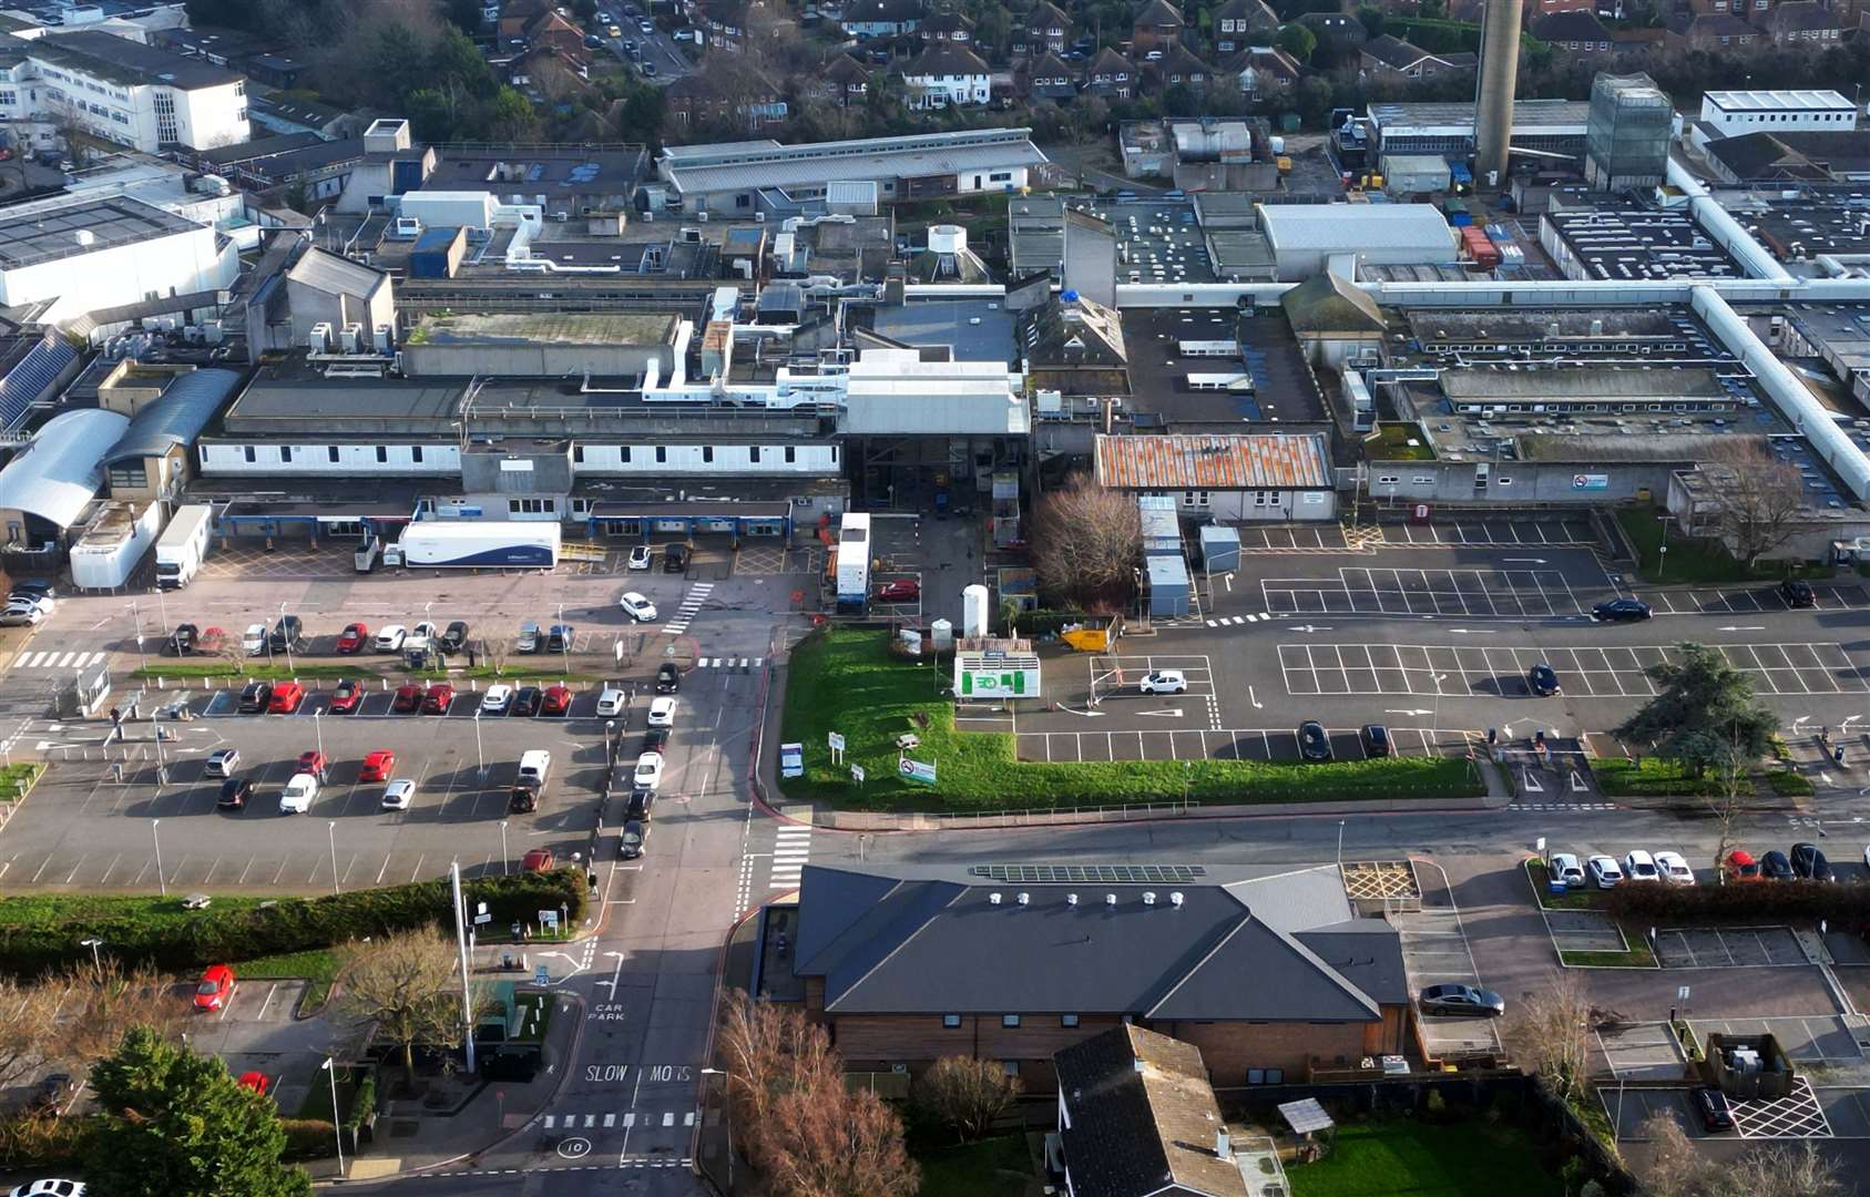
[[[1014,737],[961,733],[952,705],[937,698],[926,664],[894,660],[886,632],[832,628],[804,640],[787,666],[782,741],[804,744],[806,776],[785,782],[789,799],[858,810],[1025,810],[1131,802],[1311,802],[1328,799],[1447,799],[1485,793],[1466,759],[1388,757],[1335,765],[1264,761],[1019,761]],[[1072,664],[1072,662],[1066,662]],[[1057,664],[1053,668],[1058,668]],[[832,767],[827,733],[845,739],[845,765]],[[937,786],[898,774],[896,737],[913,731],[911,756],[937,769]],[[849,765],[862,765],[862,786]]]

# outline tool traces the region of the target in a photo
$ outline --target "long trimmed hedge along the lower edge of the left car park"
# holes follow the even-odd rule
[[[550,873],[481,877],[462,885],[468,901],[486,901],[494,926],[531,922],[539,911],[568,907],[583,915],[585,879],[559,868]],[[445,877],[325,898],[282,898],[264,905],[228,903],[181,913],[181,900],[146,898],[0,898],[0,973],[32,976],[71,963],[82,939],[97,937],[127,965],[194,969],[252,956],[329,948],[367,935],[387,935],[449,920]]]

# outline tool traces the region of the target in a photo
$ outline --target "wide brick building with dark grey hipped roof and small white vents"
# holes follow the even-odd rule
[[[961,1053],[1045,1092],[1053,1053],[1133,1023],[1244,1085],[1410,1042],[1401,939],[1331,864],[808,864],[789,963],[851,1070]]]

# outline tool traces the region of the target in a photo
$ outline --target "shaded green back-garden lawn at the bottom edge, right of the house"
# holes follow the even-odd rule
[[[1288,1163],[1292,1197],[1563,1197],[1539,1171],[1532,1143],[1483,1122],[1365,1122],[1341,1126],[1318,1163]],[[926,1191],[926,1190],[924,1190]]]

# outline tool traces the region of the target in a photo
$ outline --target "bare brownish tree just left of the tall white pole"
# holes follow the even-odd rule
[[[462,1042],[454,993],[454,943],[434,930],[396,931],[348,952],[344,986],[333,999],[340,1016],[374,1023],[402,1049],[404,1081],[415,1085],[415,1046]]]

